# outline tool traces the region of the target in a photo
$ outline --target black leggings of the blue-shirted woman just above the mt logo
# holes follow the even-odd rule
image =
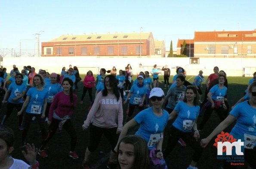
[[[212,104],[210,104],[205,112],[204,112],[204,117],[203,117],[203,121],[200,123],[200,125],[198,126],[198,130],[202,130],[204,128],[204,125],[206,124],[206,122],[210,119],[211,114],[213,113],[213,110],[218,114],[219,116],[219,122],[221,123],[223,120],[226,119],[227,117],[227,112],[223,107],[219,107],[218,109],[214,108],[212,109],[211,107]]]

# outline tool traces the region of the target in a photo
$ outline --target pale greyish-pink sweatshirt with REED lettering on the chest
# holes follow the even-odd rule
[[[123,105],[121,96],[117,101],[114,94],[102,96],[102,91],[99,92],[83,126],[89,126],[91,122],[97,127],[117,127],[117,130],[122,130]]]

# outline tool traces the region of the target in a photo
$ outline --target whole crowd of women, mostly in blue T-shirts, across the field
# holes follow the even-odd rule
[[[140,64],[140,68],[141,66]],[[86,110],[89,113],[82,129],[89,129],[90,142],[85,150],[83,169],[90,168],[90,156],[99,146],[102,134],[111,145],[107,166],[109,169],[142,169],[145,166],[167,169],[165,160],[177,142],[193,148],[194,154],[187,169],[197,169],[196,165],[204,147],[235,120],[236,125],[230,134],[245,142],[244,159],[251,168],[256,168],[256,162],[252,160],[256,159],[256,73],[249,81],[245,97],[237,101],[229,111],[225,71],[214,67],[214,73],[205,81],[207,88],[202,100],[203,71],[199,71],[193,82],[189,83],[185,80],[184,68],[177,67],[176,75],[169,83],[170,69],[167,65],[162,69],[157,68],[157,65],[153,67],[150,72],[143,69],[137,72],[134,81],[130,64],[119,71],[115,67],[108,71],[101,68],[96,79],[92,71],[86,73],[80,104],[83,104],[88,91],[90,104]],[[158,75],[161,70],[164,71],[163,89],[168,89],[166,95],[163,89],[159,88]],[[13,65],[11,75],[7,79],[6,69],[0,71],[1,91],[5,93],[2,106],[6,104],[7,107],[1,119],[0,129],[6,130],[4,124],[16,108],[19,116],[18,128],[23,130],[21,147],[31,149],[30,145],[28,147],[26,136],[31,121],[36,119],[42,134],[42,144],[38,150],[41,157],[48,156],[45,151],[46,144],[57,130],[63,128],[71,137],[69,156],[77,159],[77,134],[71,116],[77,104],[77,84],[81,80],[78,68],[72,68],[70,65],[67,70],[63,67],[60,75],[47,73],[40,69],[37,74],[31,66],[24,67],[19,73],[18,68]],[[94,86],[95,98],[92,93]],[[123,105],[127,102],[129,104],[124,119]],[[136,107],[139,113],[134,115]],[[204,126],[213,111],[219,116],[220,124],[207,138],[202,139],[200,134],[204,133]],[[197,122],[199,115],[202,115],[201,122]],[[168,122],[172,122],[172,125],[167,125]],[[128,130],[135,126],[139,126],[135,135],[127,135]],[[163,139],[166,139],[166,145],[163,145]],[[227,162],[224,162],[223,167],[234,168]]]

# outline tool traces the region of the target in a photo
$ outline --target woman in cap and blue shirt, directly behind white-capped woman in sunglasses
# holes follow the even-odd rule
[[[126,116],[126,120],[125,120],[126,122],[128,122],[129,117],[133,115],[133,111],[135,107],[138,107],[139,111],[142,111],[144,109],[143,103],[145,101],[145,97],[147,94],[147,88],[144,86],[143,80],[144,80],[144,77],[142,75],[139,75],[137,77],[138,83],[132,86],[125,101],[123,102],[123,104],[126,104],[128,99],[131,97],[129,102],[129,113]]]

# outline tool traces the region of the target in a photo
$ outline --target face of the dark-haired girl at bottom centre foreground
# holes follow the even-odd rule
[[[135,160],[134,146],[132,144],[120,143],[118,152],[118,162],[121,169],[132,169]]]

